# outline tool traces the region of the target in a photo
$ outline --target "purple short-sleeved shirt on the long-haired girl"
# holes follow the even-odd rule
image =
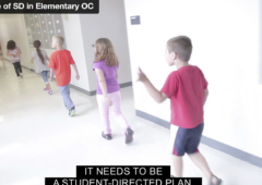
[[[107,86],[107,92],[108,94],[112,94],[115,91],[120,90],[120,87],[119,87],[119,84],[118,84],[118,81],[117,81],[117,69],[118,69],[118,66],[108,66],[108,65],[106,65],[106,62],[103,60],[103,61],[95,62],[93,64],[93,71],[95,71],[95,69],[100,69],[103,71],[104,76],[105,76],[105,81],[106,81],[106,86]],[[96,90],[96,92],[98,95],[103,95],[103,91],[100,89],[98,79],[97,79],[97,90]]]

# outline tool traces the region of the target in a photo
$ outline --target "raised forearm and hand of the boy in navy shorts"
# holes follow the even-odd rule
[[[139,79],[142,83],[144,83],[145,88],[147,92],[151,95],[151,97],[158,103],[165,101],[168,97],[167,95],[163,94],[162,91],[157,90],[153,84],[150,82],[150,79],[146,77],[146,75],[139,69]]]

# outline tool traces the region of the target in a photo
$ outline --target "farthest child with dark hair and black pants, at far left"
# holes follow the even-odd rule
[[[16,44],[13,40],[8,41],[8,51],[7,55],[11,57],[11,63],[14,65],[15,73],[19,78],[23,77],[22,66],[21,66],[21,50],[16,47]]]

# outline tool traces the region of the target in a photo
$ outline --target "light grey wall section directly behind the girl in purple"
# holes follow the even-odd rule
[[[124,5],[122,0],[100,1],[99,14],[80,14],[90,89],[96,90],[96,76],[92,70],[94,49],[92,45],[100,37],[112,41],[118,55],[119,84],[131,82]]]

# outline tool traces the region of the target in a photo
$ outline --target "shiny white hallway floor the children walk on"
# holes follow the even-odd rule
[[[16,78],[10,63],[0,70],[0,185],[44,185],[45,177],[74,177],[76,165],[170,164],[169,131],[135,116],[132,87],[121,89],[122,112],[135,132],[127,146],[114,120],[114,139],[102,138],[95,97],[71,89],[78,114],[69,118],[56,84],[50,96],[39,75],[23,70],[23,79]],[[205,145],[200,149],[224,185],[262,184],[262,169]],[[188,157],[184,175],[203,176]]]

